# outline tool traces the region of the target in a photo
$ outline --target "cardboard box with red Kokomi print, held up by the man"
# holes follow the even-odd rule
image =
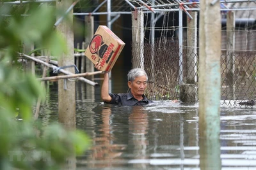
[[[125,43],[118,38],[108,27],[100,25],[95,32],[90,45],[84,55],[93,64],[100,62],[102,71],[111,71]]]

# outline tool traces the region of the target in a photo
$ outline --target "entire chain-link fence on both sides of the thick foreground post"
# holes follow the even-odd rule
[[[143,64],[148,74],[148,98],[180,99],[182,93],[197,96],[199,49],[192,50],[186,46],[186,40],[183,45],[183,53],[179,53],[179,40],[173,38],[156,39],[154,45],[144,43],[142,47],[136,46],[142,48],[144,53]],[[240,102],[254,99],[256,50],[221,50],[220,57],[221,104],[238,105]],[[138,66],[138,63],[132,64]]]

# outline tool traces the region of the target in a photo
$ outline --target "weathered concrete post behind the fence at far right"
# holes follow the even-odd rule
[[[235,29],[236,17],[234,11],[227,13],[227,79],[228,79],[228,99],[235,100],[235,85],[234,85],[234,71],[235,71]]]

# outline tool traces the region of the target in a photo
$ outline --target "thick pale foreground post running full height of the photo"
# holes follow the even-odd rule
[[[200,1],[199,132],[200,169],[221,169],[220,1]]]

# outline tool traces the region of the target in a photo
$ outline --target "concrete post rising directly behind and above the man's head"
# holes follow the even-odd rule
[[[144,13],[132,11],[132,68],[144,69]]]

